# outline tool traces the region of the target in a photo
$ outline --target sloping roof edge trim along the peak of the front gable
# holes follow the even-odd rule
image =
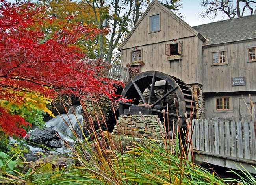
[[[198,33],[197,30],[195,30],[194,28],[192,28],[191,26],[189,26],[186,22],[184,22],[182,19],[180,19],[178,16],[176,16],[171,10],[169,10],[167,7],[163,6],[160,2],[158,2],[157,0],[153,0],[150,5],[148,6],[148,8],[146,9],[146,11],[143,13],[143,15],[141,16],[141,18],[137,21],[137,23],[134,25],[134,27],[132,28],[132,30],[130,31],[130,33],[127,35],[127,37],[124,39],[124,41],[122,42],[122,44],[119,46],[119,49],[121,50],[122,47],[124,46],[124,44],[129,40],[130,36],[134,33],[134,30],[136,30],[136,28],[138,27],[138,25],[141,23],[141,21],[146,17],[148,11],[150,11],[152,6],[159,6],[161,9],[163,9],[163,11],[165,11],[167,14],[169,14],[171,17],[173,17],[173,19],[175,19],[176,21],[178,21],[180,24],[182,24],[187,30],[191,31],[191,33],[193,33],[195,36],[199,36],[200,39],[202,41],[205,41],[206,39],[204,37],[202,37],[202,35],[200,35],[200,33]]]

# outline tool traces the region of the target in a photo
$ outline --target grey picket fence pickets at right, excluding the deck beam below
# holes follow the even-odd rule
[[[256,161],[253,122],[192,120],[192,146],[198,151]]]

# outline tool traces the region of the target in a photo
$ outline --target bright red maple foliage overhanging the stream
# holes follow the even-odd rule
[[[30,2],[11,4],[0,0],[0,100],[22,101],[15,91],[51,98],[58,93],[115,96],[117,81],[100,77],[102,67],[88,63],[76,47],[76,42],[91,39],[101,30],[79,23],[65,25],[45,39],[39,13],[42,15],[42,8]],[[23,137],[27,125],[22,117],[9,115],[0,107],[0,130]]]

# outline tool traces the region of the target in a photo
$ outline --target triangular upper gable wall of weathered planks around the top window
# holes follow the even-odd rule
[[[193,28],[173,13],[170,14],[169,10],[165,11],[155,3],[150,6],[152,7],[145,12],[145,17],[143,15],[139,24],[135,25],[121,49],[195,36]],[[149,16],[157,13],[160,14],[160,31],[149,33]]]

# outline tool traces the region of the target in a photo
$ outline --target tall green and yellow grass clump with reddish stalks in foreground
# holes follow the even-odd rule
[[[37,178],[31,184],[40,185],[224,185],[222,179],[210,173],[204,168],[187,160],[187,152],[178,146],[180,138],[176,139],[177,145],[173,146],[165,131],[162,138],[165,145],[144,138],[135,142],[132,138],[128,146],[124,146],[121,135],[111,135],[108,131],[102,131],[98,121],[98,132],[95,131],[92,113],[87,112],[87,107],[81,101],[83,111],[89,120],[91,141],[87,140],[84,133],[84,141],[77,137],[76,148],[72,150],[73,165],[65,170],[50,174],[48,178]],[[101,109],[95,109],[94,115],[98,119],[99,110],[101,120],[104,115]],[[104,120],[106,124],[106,121]],[[82,128],[82,125],[81,125]],[[107,125],[106,125],[107,128]],[[74,133],[76,134],[76,133]],[[169,143],[168,143],[169,142]],[[36,174],[31,174],[33,177]]]

